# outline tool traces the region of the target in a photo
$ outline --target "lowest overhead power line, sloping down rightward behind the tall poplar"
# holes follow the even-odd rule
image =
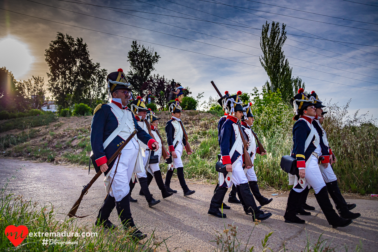
[[[112,34],[110,32],[98,31],[98,30],[95,30],[95,29],[89,29],[89,28],[85,28],[85,27],[81,27],[81,26],[76,26],[76,25],[70,25],[70,24],[66,24],[66,23],[62,23],[62,22],[57,22],[57,21],[53,21],[53,20],[49,20],[49,19],[43,19],[43,18],[40,18],[40,17],[35,17],[35,16],[32,16],[32,15],[23,14],[23,13],[16,12],[16,11],[10,11],[10,10],[4,9],[4,8],[0,8],[0,9],[2,9],[4,11],[9,11],[9,12],[12,12],[12,13],[24,15],[24,16],[27,16],[27,17],[33,17],[33,18],[40,19],[40,20],[45,20],[45,21],[49,21],[49,22],[53,22],[53,23],[59,23],[61,25],[67,25],[67,26],[71,26],[71,27],[81,28],[81,29],[85,29],[85,30],[88,30],[88,31],[100,32],[100,33],[103,33],[103,34],[108,34],[108,35],[111,35],[111,36],[122,37],[122,38],[125,38],[125,39],[139,40],[141,42],[151,43],[153,45],[160,45],[160,46],[164,46],[164,47],[168,47],[168,48],[178,49],[178,50],[181,50],[181,51],[187,51],[187,52],[190,52],[190,53],[196,53],[196,54],[200,54],[200,55],[204,55],[204,56],[214,57],[214,58],[217,58],[217,59],[223,59],[223,60],[228,60],[228,61],[231,61],[231,62],[241,63],[241,64],[245,64],[245,65],[256,66],[256,65],[253,65],[253,64],[249,64],[249,63],[244,63],[244,62],[239,62],[239,61],[231,60],[231,59],[225,59],[225,58],[221,58],[221,57],[217,57],[217,56],[212,56],[212,55],[208,55],[208,54],[204,54],[204,53],[198,53],[198,52],[194,52],[194,51],[189,51],[189,50],[186,50],[186,49],[176,48],[176,47],[173,47],[173,46],[167,46],[167,45],[162,45],[162,44],[158,44],[158,43],[154,43],[154,42],[149,42],[149,41],[146,41],[146,40],[134,39],[134,38],[126,37],[126,36]],[[256,67],[262,68],[262,66],[256,66]],[[297,75],[297,74],[295,74],[295,75]],[[300,76],[300,75],[298,75],[298,76]],[[301,76],[301,77],[315,79],[315,78],[311,78],[311,77],[307,77],[307,76]],[[320,80],[320,79],[316,79],[316,80]],[[328,80],[321,80],[321,81],[330,82]],[[330,82],[330,83],[336,83],[336,84],[339,84],[339,85],[345,85],[345,86],[349,86],[349,87],[355,87],[355,88],[362,88],[362,89],[367,89],[367,90],[378,91],[378,90],[375,90],[375,89],[357,87],[357,86],[352,86],[352,85],[346,85],[346,84],[337,83],[337,82]]]

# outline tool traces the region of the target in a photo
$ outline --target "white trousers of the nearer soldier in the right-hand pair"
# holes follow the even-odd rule
[[[306,168],[306,182],[304,187],[299,189],[293,188],[296,192],[302,192],[306,186],[310,185],[315,190],[315,193],[318,193],[323,187],[325,187],[325,182],[319,169],[318,159],[314,155],[311,155],[310,158],[310,164],[308,164],[308,167]]]

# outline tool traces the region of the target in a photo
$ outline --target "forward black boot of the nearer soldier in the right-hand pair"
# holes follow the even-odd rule
[[[318,193],[315,193],[315,198],[316,201],[318,201],[318,204],[322,209],[325,218],[327,219],[328,223],[332,225],[333,228],[346,227],[353,222],[352,220],[340,217],[336,213],[335,209],[333,209],[330,198],[328,197],[326,186],[324,186]]]

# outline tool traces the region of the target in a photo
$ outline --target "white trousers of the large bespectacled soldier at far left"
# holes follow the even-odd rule
[[[113,169],[110,172],[109,178],[110,181],[112,181],[114,176],[110,196],[115,197],[116,201],[121,201],[121,199],[130,192],[129,182],[133,174],[138,152],[139,150],[135,148],[122,151],[121,158],[119,158],[117,173],[115,176],[114,171],[116,169],[118,157],[114,162]]]

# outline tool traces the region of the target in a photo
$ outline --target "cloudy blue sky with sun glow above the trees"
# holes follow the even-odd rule
[[[203,101],[217,97],[211,80],[221,92],[261,91],[262,25],[284,23],[284,54],[305,90],[326,103],[352,99],[350,113],[378,118],[376,0],[0,0],[0,8],[0,67],[17,80],[42,76],[47,84],[44,54],[57,32],[81,37],[108,73],[129,71],[137,40],[161,57],[153,74],[192,96],[204,92]]]

